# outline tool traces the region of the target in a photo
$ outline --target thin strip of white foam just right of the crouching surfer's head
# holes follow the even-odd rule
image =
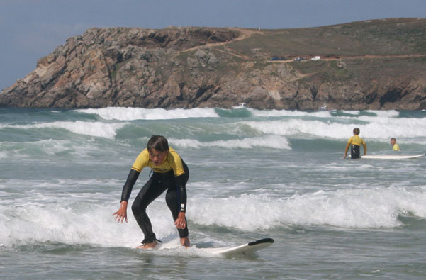
[[[194,139],[170,139],[173,145],[179,147],[225,147],[225,148],[242,148],[251,149],[253,147],[270,147],[273,149],[291,150],[287,138],[277,135],[265,135],[257,138],[244,138],[235,140],[218,140],[211,142],[201,142]]]

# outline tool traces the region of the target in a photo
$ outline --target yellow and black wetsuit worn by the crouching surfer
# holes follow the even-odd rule
[[[169,148],[167,157],[159,166],[152,163],[148,150],[145,149],[140,152],[130,169],[128,179],[123,186],[121,201],[129,200],[133,185],[145,167],[150,167],[153,174],[136,196],[132,204],[132,212],[145,235],[142,243],[149,243],[154,242],[156,237],[146,213],[147,206],[167,190],[166,203],[172,212],[173,219],[176,220],[179,212],[186,211],[186,182],[189,179],[189,169],[172,148]],[[188,223],[184,229],[178,229],[178,232],[179,237],[188,237]]]

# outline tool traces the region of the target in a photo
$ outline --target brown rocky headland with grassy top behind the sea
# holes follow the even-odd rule
[[[407,18],[293,30],[91,28],[1,91],[0,106],[425,109],[425,30],[425,19]]]

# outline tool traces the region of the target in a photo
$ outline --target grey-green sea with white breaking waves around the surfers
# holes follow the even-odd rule
[[[370,155],[426,152],[425,111],[0,108],[1,278],[425,279],[426,157],[343,159],[356,126]],[[164,195],[147,209],[164,250],[112,216],[154,134],[190,169],[188,250]],[[255,257],[198,250],[263,237]]]

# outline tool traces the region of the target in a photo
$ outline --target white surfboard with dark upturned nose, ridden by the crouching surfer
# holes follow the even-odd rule
[[[267,248],[274,243],[272,238],[259,239],[253,242],[249,242],[240,246],[235,247],[220,247],[220,248],[198,248],[209,254],[218,254],[224,257],[250,257],[254,255],[254,252]]]

